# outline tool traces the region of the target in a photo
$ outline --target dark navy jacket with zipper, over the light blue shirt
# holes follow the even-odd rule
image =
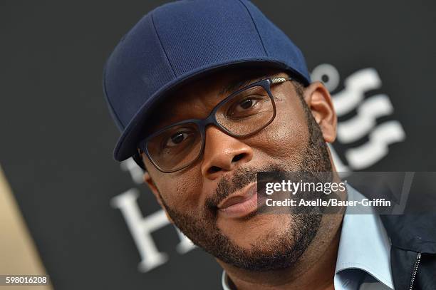
[[[373,173],[373,180],[358,185],[358,190],[368,198],[385,197],[397,204],[405,175],[411,177],[403,214],[380,214],[392,245],[390,268],[395,290],[436,290],[436,172],[390,172],[394,175],[385,177]],[[395,180],[392,176],[400,177],[395,182],[400,187],[390,183]],[[388,183],[390,186],[384,186]]]

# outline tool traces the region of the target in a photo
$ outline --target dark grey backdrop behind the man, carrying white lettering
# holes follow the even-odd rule
[[[334,145],[344,166],[436,171],[434,1],[254,3],[301,48],[310,71],[322,63],[336,68],[340,81],[333,97],[354,73],[376,72],[379,85],[363,98],[387,95],[387,111],[373,118],[368,134]],[[123,34],[160,4],[0,4],[0,165],[55,289],[219,289],[221,269],[213,258],[200,249],[177,252],[180,239],[171,226],[152,232],[169,260],[138,271],[138,248],[122,212],[110,205],[112,197],[136,188],[144,217],[159,209],[150,192],[112,160],[118,131],[104,103],[101,75]],[[340,124],[359,115],[358,108],[340,116]],[[371,137],[386,122],[396,133]],[[382,140],[380,156],[351,164],[347,150],[374,140]]]

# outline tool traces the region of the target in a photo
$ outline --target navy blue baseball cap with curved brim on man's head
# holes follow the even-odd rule
[[[150,11],[123,36],[103,71],[105,98],[122,132],[115,160],[137,153],[153,105],[170,90],[246,64],[282,68],[310,83],[299,48],[249,1],[176,1]]]

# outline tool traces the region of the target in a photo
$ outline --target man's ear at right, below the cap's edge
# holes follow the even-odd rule
[[[326,87],[319,81],[311,83],[304,90],[304,100],[311,110],[313,118],[318,123],[323,133],[323,138],[328,143],[336,139],[336,125],[338,123],[331,95]]]

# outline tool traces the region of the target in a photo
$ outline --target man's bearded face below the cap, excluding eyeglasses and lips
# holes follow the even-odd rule
[[[152,129],[206,118],[229,95],[229,84],[273,76],[287,75],[239,69],[194,81],[157,108]],[[162,173],[143,155],[146,180],[175,225],[214,257],[259,271],[294,264],[315,236],[321,216],[256,214],[256,209],[232,214],[222,204],[233,195],[249,196],[256,172],[332,170],[321,130],[294,83],[271,85],[271,92],[276,103],[271,124],[248,138],[233,138],[209,125],[202,157],[185,170]]]

